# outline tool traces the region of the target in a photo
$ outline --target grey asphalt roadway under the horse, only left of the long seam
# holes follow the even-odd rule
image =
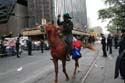
[[[90,65],[91,60],[95,57],[96,52],[82,49],[82,54],[80,69],[81,72],[84,72]],[[52,82],[54,79],[54,67],[50,58],[50,51],[45,51],[43,54],[40,51],[33,51],[33,56],[28,56],[27,52],[23,52],[21,58],[16,58],[16,56],[0,58],[0,83]],[[60,61],[59,65],[59,71],[61,72],[59,73],[59,80],[65,81]],[[67,72],[69,76],[73,73],[73,67],[73,60],[67,62]],[[81,72],[78,75],[82,77],[83,74]],[[79,78],[77,80],[79,80]]]

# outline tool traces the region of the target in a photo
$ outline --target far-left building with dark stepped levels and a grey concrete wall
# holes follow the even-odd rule
[[[26,0],[1,0],[0,1],[0,33],[14,36],[20,33],[21,28],[27,27],[27,1]]]

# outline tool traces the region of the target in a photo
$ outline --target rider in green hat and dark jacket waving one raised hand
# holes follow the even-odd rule
[[[57,24],[62,28],[62,34],[67,44],[66,46],[68,49],[68,53],[71,53],[72,40],[73,40],[73,35],[72,35],[73,22],[71,21],[71,19],[72,18],[69,16],[69,14],[65,13],[63,15],[63,20],[64,20],[63,22],[60,21],[60,15],[58,15],[58,20],[57,20]],[[67,57],[67,60],[70,60],[69,56]]]

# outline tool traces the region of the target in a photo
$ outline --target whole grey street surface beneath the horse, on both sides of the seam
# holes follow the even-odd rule
[[[100,50],[100,44],[97,48]],[[80,72],[77,73],[76,79],[72,79],[74,61],[67,62],[66,66],[70,81],[65,81],[59,61],[59,83],[80,83],[82,81],[97,56],[97,51],[82,49],[81,52]],[[96,64],[84,83],[122,83],[119,79],[113,79],[116,56],[117,50],[113,50],[112,56],[108,58],[102,57],[102,52],[99,51]],[[27,52],[23,52],[21,58],[16,58],[16,56],[0,58],[0,83],[52,83],[54,67],[50,58],[50,52],[47,50],[43,54],[40,51],[33,51],[33,56],[27,56]]]

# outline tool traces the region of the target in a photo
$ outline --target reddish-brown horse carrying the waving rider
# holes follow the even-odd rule
[[[48,35],[48,41],[51,45],[51,56],[55,67],[55,81],[54,83],[58,83],[58,60],[62,61],[63,72],[66,76],[66,80],[69,80],[69,76],[66,72],[66,43],[65,41],[58,35],[57,27],[54,24],[45,25],[45,30]],[[77,67],[79,67],[78,58],[75,60],[75,69],[73,73],[73,77],[75,77]]]

